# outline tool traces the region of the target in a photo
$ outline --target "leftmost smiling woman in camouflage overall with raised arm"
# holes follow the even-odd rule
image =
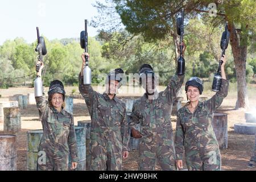
[[[40,75],[43,63],[40,62]],[[61,81],[51,82],[46,96],[35,97],[43,125],[43,137],[38,152],[39,171],[67,171],[71,155],[71,169],[77,167],[77,142],[73,115],[64,110],[65,90]]]

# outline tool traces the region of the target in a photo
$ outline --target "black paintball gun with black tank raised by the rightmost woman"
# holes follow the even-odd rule
[[[225,31],[222,32],[221,42],[220,42],[220,47],[222,49],[221,57],[225,55],[225,50],[226,50],[226,48],[228,48],[228,46],[229,46],[229,31],[228,31],[228,22],[226,22]],[[219,63],[218,63],[218,70],[214,74],[213,83],[212,83],[212,91],[213,92],[220,91],[220,86],[221,86],[221,64],[222,63],[223,63],[223,61],[220,60]]]

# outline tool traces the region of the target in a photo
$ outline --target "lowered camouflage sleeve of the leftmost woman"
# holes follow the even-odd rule
[[[68,147],[71,154],[71,162],[78,162],[79,159],[78,159],[76,131],[74,126],[73,115],[71,115],[71,125],[69,128],[69,136],[68,136]]]

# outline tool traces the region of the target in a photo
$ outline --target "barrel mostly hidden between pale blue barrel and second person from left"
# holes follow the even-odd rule
[[[90,169],[89,149],[90,149],[90,120],[78,121],[77,125],[85,128],[86,133],[86,169]]]

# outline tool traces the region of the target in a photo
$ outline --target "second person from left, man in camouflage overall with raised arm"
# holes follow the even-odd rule
[[[129,154],[126,107],[115,96],[117,89],[121,86],[123,71],[119,68],[110,72],[106,77],[105,92],[97,93],[91,85],[82,83],[85,55],[88,53],[83,53],[81,56],[79,91],[85,99],[92,120],[89,148],[90,170],[119,171],[122,169],[122,158],[126,159]]]

